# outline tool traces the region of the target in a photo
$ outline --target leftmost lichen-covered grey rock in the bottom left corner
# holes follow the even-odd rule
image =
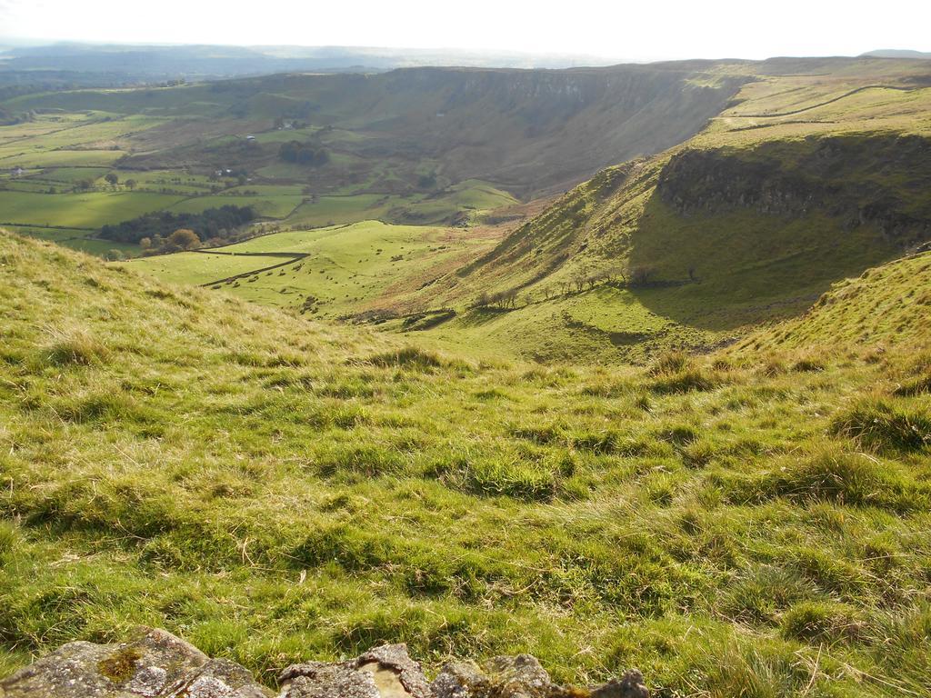
[[[246,669],[164,630],[128,642],[70,642],[0,681],[0,698],[266,698]]]

